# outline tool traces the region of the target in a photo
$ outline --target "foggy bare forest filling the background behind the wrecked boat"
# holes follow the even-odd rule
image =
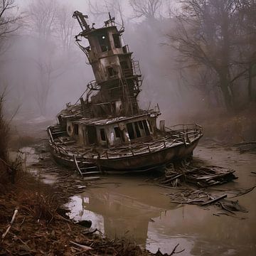
[[[1,93],[6,112],[54,117],[92,80],[75,46],[70,1],[1,1]],[[230,114],[255,102],[255,1],[87,1],[95,26],[108,13],[126,30],[144,75],[140,101],[166,119],[188,112]],[[17,115],[17,117],[18,117]]]

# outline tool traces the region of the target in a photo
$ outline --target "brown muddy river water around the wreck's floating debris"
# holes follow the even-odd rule
[[[235,169],[238,180],[221,188],[249,188],[256,184],[255,154],[239,154],[198,146],[194,156],[207,164]],[[238,199],[249,213],[235,217],[213,215],[215,206],[178,206],[164,193],[169,188],[149,186],[146,176],[107,176],[98,188],[73,196],[71,217],[92,220],[109,238],[131,238],[151,252],[170,253],[179,244],[184,255],[256,255],[256,189]],[[237,198],[235,198],[236,200]]]

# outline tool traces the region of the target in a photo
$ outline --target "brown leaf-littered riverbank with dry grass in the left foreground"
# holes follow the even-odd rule
[[[1,235],[15,210],[17,214],[1,238],[0,255],[153,255],[134,242],[108,240],[97,230],[73,223],[62,206],[68,197],[67,191],[41,182],[26,169],[16,174],[14,184],[1,186]]]

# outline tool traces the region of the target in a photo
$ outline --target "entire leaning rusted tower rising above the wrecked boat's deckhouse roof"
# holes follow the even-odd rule
[[[101,116],[132,116],[139,114],[137,96],[142,85],[142,74],[139,62],[133,60],[129,47],[122,46],[124,29],[117,29],[114,17],[109,14],[102,28],[92,28],[79,11],[74,18],[82,31],[75,36],[78,46],[87,55],[89,64],[95,75],[95,80],[87,85],[87,97],[81,99],[84,108],[90,106],[94,117]],[[89,46],[84,47],[79,42],[85,38]]]

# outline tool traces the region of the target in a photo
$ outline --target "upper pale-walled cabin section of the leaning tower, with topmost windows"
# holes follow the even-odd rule
[[[134,75],[141,76],[139,65],[132,60],[132,53],[129,52],[128,46],[122,46],[124,29],[118,30],[117,26],[114,26],[114,18],[110,16],[102,28],[90,28],[85,21],[87,16],[79,11],[75,11],[73,16],[78,18],[82,28],[78,36],[85,37],[89,42],[87,47],[78,44],[92,65],[97,84],[131,78]],[[78,36],[76,38],[79,42]]]

